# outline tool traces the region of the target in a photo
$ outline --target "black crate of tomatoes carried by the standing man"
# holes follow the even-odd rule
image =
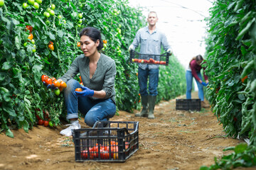
[[[134,50],[130,51],[130,62],[141,63],[141,64],[160,64],[168,65],[169,64],[169,52],[165,52],[161,55],[146,55],[136,52]]]

